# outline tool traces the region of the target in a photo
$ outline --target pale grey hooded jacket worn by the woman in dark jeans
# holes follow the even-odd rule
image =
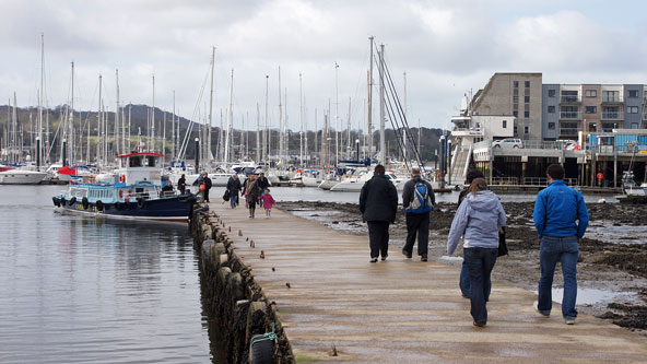
[[[447,255],[456,250],[461,236],[464,236],[463,248],[497,248],[498,230],[505,224],[505,211],[494,192],[479,191],[477,196],[469,193],[451,222]]]

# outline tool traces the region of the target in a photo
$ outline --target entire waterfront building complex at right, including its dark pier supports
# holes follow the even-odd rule
[[[542,186],[561,163],[573,186],[647,178],[647,85],[543,84],[542,74],[495,73],[451,118],[449,184],[469,167],[492,185]]]

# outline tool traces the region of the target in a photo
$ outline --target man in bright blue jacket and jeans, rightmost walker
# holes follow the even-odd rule
[[[534,201],[534,227],[541,246],[539,249],[539,297],[534,308],[544,317],[551,315],[553,298],[551,290],[555,265],[562,262],[564,297],[562,316],[567,325],[575,324],[577,310],[577,257],[578,239],[589,224],[589,213],[581,193],[564,183],[564,167],[551,164],[546,169],[549,187],[537,195]]]

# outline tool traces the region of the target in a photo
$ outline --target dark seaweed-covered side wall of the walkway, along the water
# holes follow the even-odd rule
[[[255,334],[272,331],[274,363],[294,363],[292,348],[275,307],[254,279],[251,268],[236,255],[231,227],[214,213],[195,211],[190,221],[191,234],[200,251],[203,304],[214,317],[227,363],[249,363],[250,341]]]

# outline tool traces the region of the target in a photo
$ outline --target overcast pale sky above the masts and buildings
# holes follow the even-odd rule
[[[353,128],[366,119],[368,37],[385,44],[409,122],[449,127],[461,96],[494,72],[542,72],[544,83],[647,83],[644,1],[409,1],[409,0],[105,0],[0,2],[0,104],[17,93],[37,104],[40,34],[45,34],[46,102],[70,99],[75,63],[75,109],[96,110],[98,75],[115,109],[115,70],[122,103],[153,103],[205,118],[209,85],[199,98],[215,46],[213,125],[230,104],[234,127],[256,128],[257,103],[279,125],[279,67],[287,93],[289,127],[299,128],[299,73],[308,129],[321,128],[331,102],[336,62],[339,117]],[[375,78],[377,80],[377,77]],[[375,94],[376,95],[376,94]],[[377,105],[377,103],[376,103]],[[377,113],[377,108],[374,108]],[[225,121],[226,122],[226,119]],[[261,121],[262,122],[262,121]],[[332,121],[334,124],[334,121]]]

